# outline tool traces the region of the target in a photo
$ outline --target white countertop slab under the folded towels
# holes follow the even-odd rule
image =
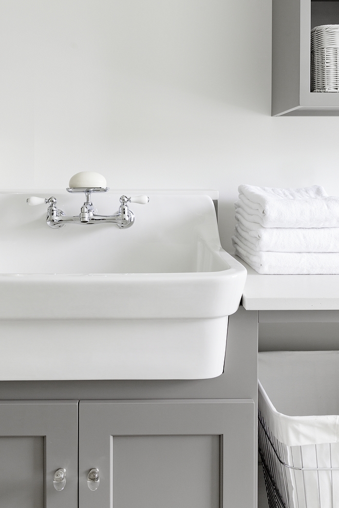
[[[242,305],[247,310],[337,310],[339,275],[261,275],[247,269]]]

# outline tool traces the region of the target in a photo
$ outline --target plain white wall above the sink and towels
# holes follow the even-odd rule
[[[339,195],[339,117],[272,118],[270,0],[3,0],[0,188],[215,188],[231,247],[240,183]]]

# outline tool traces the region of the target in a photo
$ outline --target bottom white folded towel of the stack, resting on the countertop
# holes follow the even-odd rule
[[[257,252],[234,243],[235,253],[258,273],[269,275],[339,274],[339,252]]]

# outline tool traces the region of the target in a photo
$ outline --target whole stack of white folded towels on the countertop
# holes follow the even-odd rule
[[[318,185],[238,190],[237,256],[259,273],[339,273],[339,198]]]

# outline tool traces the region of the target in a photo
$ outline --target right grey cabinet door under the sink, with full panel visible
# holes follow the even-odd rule
[[[254,421],[251,399],[81,401],[79,506],[252,508]]]

